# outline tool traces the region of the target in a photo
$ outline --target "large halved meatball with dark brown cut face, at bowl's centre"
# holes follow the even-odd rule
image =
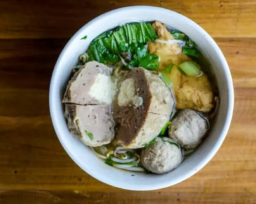
[[[172,92],[159,76],[132,70],[120,83],[114,108],[116,138],[128,148],[141,148],[156,136],[175,109]]]

